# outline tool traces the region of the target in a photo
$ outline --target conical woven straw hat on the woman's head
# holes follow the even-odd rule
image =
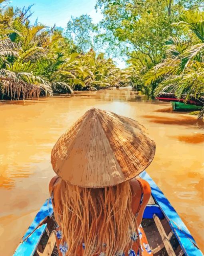
[[[80,187],[107,187],[132,179],[152,161],[155,143],[133,119],[90,109],[52,149],[52,167]]]

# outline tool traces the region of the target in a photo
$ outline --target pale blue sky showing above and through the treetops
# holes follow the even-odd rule
[[[30,17],[32,23],[38,18],[38,22],[46,26],[56,26],[66,28],[71,16],[78,17],[82,14],[89,14],[94,23],[102,19],[100,11],[96,12],[96,0],[11,0],[10,5],[23,8],[32,6],[34,12]],[[116,65],[123,69],[126,67],[124,61],[115,59]]]

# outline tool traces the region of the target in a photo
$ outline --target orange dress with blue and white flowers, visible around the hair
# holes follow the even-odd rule
[[[139,181],[139,180],[138,180]],[[140,181],[139,181],[140,183]],[[143,186],[140,183],[140,187],[142,190],[140,205],[136,212],[136,217],[140,212],[140,208],[143,204],[144,191]],[[52,194],[52,202],[53,202],[53,194]],[[139,239],[139,240],[138,240]],[[129,244],[129,248],[125,252],[120,252],[115,256],[153,256],[151,248],[148,244],[146,235],[141,225],[139,225],[137,232],[134,232],[131,236],[132,242]],[[62,231],[60,227],[56,228],[56,244],[58,247],[59,256],[66,256],[66,252],[68,251],[68,243],[62,241]],[[82,243],[81,248],[79,246],[76,256],[81,256],[83,254],[83,250],[85,249],[86,244]],[[104,244],[106,246],[106,244]],[[97,256],[97,255],[94,255]],[[104,252],[101,252],[98,256],[106,256]]]

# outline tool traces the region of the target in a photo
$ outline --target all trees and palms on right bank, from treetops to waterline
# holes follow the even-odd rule
[[[154,98],[204,96],[204,12],[200,0],[98,0],[101,34],[128,57],[134,88]],[[108,31],[108,32],[107,32]],[[135,77],[135,78],[134,78]],[[138,86],[137,86],[138,85]]]

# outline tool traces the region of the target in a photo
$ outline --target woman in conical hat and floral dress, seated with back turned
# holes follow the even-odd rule
[[[135,177],[154,153],[142,125],[99,109],[58,139],[49,189],[60,256],[152,255],[140,225],[151,190]]]

